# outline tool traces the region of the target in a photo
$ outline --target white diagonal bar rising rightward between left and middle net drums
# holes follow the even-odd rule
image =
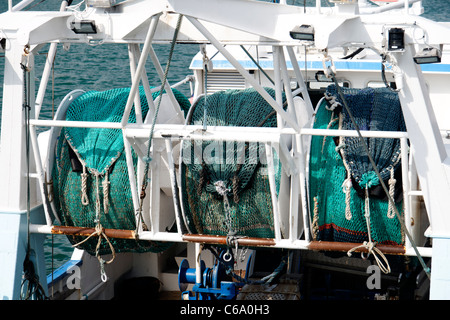
[[[151,48],[151,42],[153,39],[153,36],[155,35],[156,27],[158,25],[160,14],[152,16],[150,20],[150,26],[148,28],[147,36],[145,38],[144,47],[142,48],[142,55],[139,59],[139,63],[136,67],[136,71],[133,77],[133,81],[130,88],[130,95],[128,96],[127,104],[125,105],[125,110],[122,117],[122,127],[125,127],[128,118],[130,117],[131,107],[133,105],[134,97],[136,96],[136,93],[139,89],[139,83],[142,76],[142,70],[145,66],[145,62],[147,60],[148,52]]]

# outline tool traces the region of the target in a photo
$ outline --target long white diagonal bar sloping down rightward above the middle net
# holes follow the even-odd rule
[[[216,47],[220,53],[236,68],[236,70],[247,80],[256,91],[261,94],[261,96],[272,106],[272,108],[277,111],[280,116],[285,120],[292,128],[298,130],[298,124],[295,119],[291,119],[289,115],[283,110],[283,108],[278,105],[278,103],[272,99],[272,97],[262,88],[258,81],[253,78],[247,70],[245,70],[241,64],[225,49],[225,47],[195,18],[186,16],[186,18],[209,40],[211,44]]]

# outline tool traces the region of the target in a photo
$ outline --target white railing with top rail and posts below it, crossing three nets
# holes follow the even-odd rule
[[[36,136],[36,126],[60,126],[60,127],[86,127],[86,128],[112,128],[112,129],[121,129],[124,141],[128,141],[128,144],[125,145],[129,150],[126,152],[127,157],[131,156],[131,146],[135,148],[138,145],[144,145],[148,141],[150,125],[146,124],[128,124],[125,128],[121,126],[120,123],[98,123],[98,122],[83,122],[83,121],[56,121],[56,120],[31,120],[30,121],[32,134],[32,142],[33,142],[33,150],[35,151],[35,159],[37,165],[37,173],[34,174],[34,177],[38,177],[40,179],[41,188],[45,187],[44,184],[44,175],[42,164],[39,162],[39,149],[35,148],[37,146],[37,136]],[[171,175],[171,187],[173,192],[179,192],[173,181],[175,179],[175,168],[174,163],[178,160],[179,155],[175,155],[172,152],[173,143],[181,142],[183,140],[208,140],[208,141],[242,141],[242,142],[258,142],[264,144],[266,146],[266,155],[268,158],[271,158],[270,150],[271,147],[276,146],[277,150],[280,150],[281,159],[283,165],[287,163],[287,167],[290,172],[296,173],[295,175],[291,175],[291,183],[296,181],[296,183],[292,183],[293,188],[298,188],[296,190],[291,190],[291,198],[289,201],[297,202],[298,197],[301,198],[301,207],[291,207],[289,210],[289,215],[286,221],[281,221],[278,212],[275,210],[273,213],[274,218],[274,226],[275,226],[275,238],[274,239],[241,239],[238,241],[240,245],[245,245],[249,241],[253,244],[261,245],[261,246],[270,246],[275,248],[287,248],[287,249],[310,249],[312,243],[314,241],[310,238],[309,234],[309,225],[310,225],[310,215],[309,215],[309,207],[307,201],[307,166],[306,166],[306,152],[302,150],[302,141],[305,136],[347,136],[347,137],[357,137],[358,133],[355,130],[331,130],[331,129],[308,129],[303,128],[300,132],[296,132],[292,128],[252,128],[252,127],[216,127],[210,126],[206,131],[203,131],[203,126],[200,125],[167,125],[167,124],[157,124],[154,128],[154,145],[157,144],[157,141],[161,141],[160,143],[165,146],[165,152],[167,152],[168,156],[168,164],[166,164],[169,168]],[[391,132],[391,131],[361,131],[361,135],[363,137],[373,137],[373,138],[395,138],[399,139],[401,142],[401,156],[402,159],[409,159],[406,161],[402,161],[402,183],[403,183],[403,199],[404,199],[404,221],[405,225],[408,229],[408,232],[414,237],[418,236],[418,228],[420,228],[420,213],[411,207],[411,198],[412,197],[420,197],[420,190],[411,190],[411,185],[415,186],[415,183],[411,183],[411,179],[414,179],[415,173],[414,168],[411,164],[411,155],[408,154],[408,134],[406,132]],[[283,151],[283,148],[280,148],[280,140],[281,136],[291,136],[296,141],[296,145],[298,147],[297,154],[292,155],[289,152]],[[142,154],[141,150],[135,149],[135,151],[139,154]],[[182,225],[182,221],[180,220],[180,212],[176,213],[176,223],[177,223],[177,232],[168,232],[164,230],[160,230],[159,228],[159,174],[161,173],[162,163],[160,160],[161,152],[159,152],[159,156],[153,154],[153,161],[155,161],[155,166],[151,169],[151,181],[153,181],[153,185],[151,189],[155,192],[150,200],[152,203],[150,204],[150,212],[145,212],[144,214],[148,217],[150,221],[151,230],[143,231],[139,230],[137,234],[124,233],[119,235],[119,237],[133,237],[138,236],[139,239],[142,240],[151,240],[151,241],[169,241],[169,242],[201,242],[201,241],[213,241],[215,239],[217,243],[224,241],[224,239],[220,237],[212,237],[211,236],[196,236],[196,235],[186,235],[182,234],[181,230],[184,229]],[[142,159],[140,159],[142,161]],[[128,161],[128,163],[132,163]],[[273,166],[273,163],[269,165]],[[133,168],[129,168],[129,171],[134,171]],[[269,178],[270,180],[274,179],[273,170],[269,170]],[[137,197],[139,186],[137,185],[137,179],[134,179],[135,182],[130,182],[130,186],[132,188],[132,193]],[[150,191],[151,192],[151,191]],[[276,199],[274,184],[271,184],[271,193],[273,199]],[[41,195],[44,196],[44,190],[41,190]],[[136,201],[136,199],[135,199]],[[274,208],[277,208],[276,202],[274,203]],[[138,204],[134,203],[135,208],[137,209]],[[176,207],[176,206],[175,206]],[[293,209],[294,208],[294,209]],[[303,224],[304,230],[304,239],[301,239],[301,234],[297,234],[297,230],[300,223],[300,216],[302,218],[301,223]],[[50,219],[50,214],[46,212],[47,217],[47,225],[31,225],[31,232],[37,233],[64,233],[64,231],[55,231],[53,228],[59,228],[57,226],[53,226]],[[415,223],[409,223],[411,221],[415,221]],[[286,237],[282,237],[280,233],[280,226],[284,223],[289,225],[289,231]],[[259,241],[259,242],[258,242]],[[413,250],[411,242],[408,238],[405,238],[404,245],[404,254],[406,255],[415,255],[416,252]],[[418,252],[422,256],[431,256],[431,248],[419,247]]]

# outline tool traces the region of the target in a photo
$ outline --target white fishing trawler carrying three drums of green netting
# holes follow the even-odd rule
[[[3,299],[450,298],[450,26],[421,1],[32,2],[0,15]],[[130,84],[45,119],[70,44],[126,46]]]

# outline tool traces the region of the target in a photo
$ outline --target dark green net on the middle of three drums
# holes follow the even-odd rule
[[[274,90],[266,91],[274,97]],[[276,113],[253,88],[216,92],[207,97],[206,108],[201,97],[187,122],[203,124],[205,117],[208,126],[277,126]],[[274,237],[266,162],[263,143],[185,141],[181,198],[188,231]],[[278,194],[281,163],[276,152],[274,163]]]

